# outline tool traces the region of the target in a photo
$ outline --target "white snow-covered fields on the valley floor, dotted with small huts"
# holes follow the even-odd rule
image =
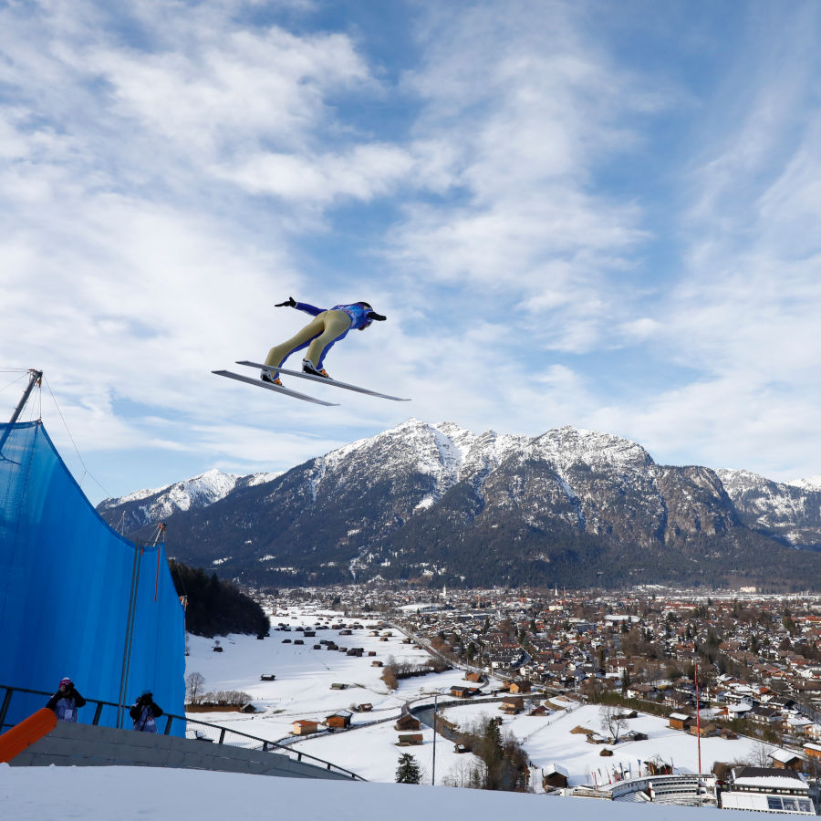
[[[334,616],[327,623],[343,620]],[[363,625],[374,624],[377,619],[360,621]],[[340,636],[337,630],[317,630],[316,638],[304,639],[304,645],[294,645],[293,639],[302,638],[297,626],[313,629],[317,621],[326,623],[326,617],[315,612],[290,611],[286,618],[272,618],[273,626],[286,622],[291,632],[272,630],[271,637],[259,641],[253,636],[231,636],[221,639],[222,653],[213,652],[213,641],[192,636],[187,671],[197,671],[205,678],[205,690],[239,690],[247,692],[255,705],[263,712],[256,715],[238,713],[197,713],[192,718],[213,722],[229,729],[240,730],[271,741],[287,740],[298,749],[325,759],[357,773],[369,781],[392,782],[395,777],[400,753],[411,753],[419,762],[423,781],[431,783],[433,775],[433,733],[422,728],[424,743],[421,746],[396,745],[398,734],[394,722],[400,715],[403,703],[431,702],[425,693],[445,694],[442,701],[449,701],[452,684],[463,683],[462,670],[450,670],[414,679],[400,681],[399,690],[390,692],[380,680],[382,670],[371,666],[375,651],[377,659],[387,661],[390,656],[398,661],[421,663],[430,657],[423,650],[402,644],[404,637],[394,630],[388,641],[369,637],[369,629],[355,630],[352,636]],[[384,632],[380,630],[379,632]],[[283,639],[292,639],[283,643]],[[313,650],[319,639],[331,639],[340,646],[361,647],[362,658],[348,657],[333,650]],[[259,681],[261,673],[274,673],[275,681]],[[332,683],[347,685],[343,691],[331,690]],[[333,734],[321,733],[304,740],[292,742],[289,733],[297,719],[322,721],[338,710],[348,710],[362,702],[373,704],[373,712],[354,712],[354,729]],[[659,754],[672,761],[678,772],[698,770],[698,747],[694,737],[670,730],[665,720],[640,715],[628,722],[629,730],[648,735],[647,741],[619,742],[610,747],[613,756],[601,757],[602,747],[587,743],[586,736],[571,733],[577,726],[601,731],[598,707],[580,705],[577,701],[553,701],[547,704],[554,712],[548,716],[503,716],[503,732],[509,731],[523,744],[535,771],[548,764],[561,764],[570,774],[570,784],[607,783],[614,770],[624,769],[639,774],[639,762],[646,762]],[[459,707],[442,711],[451,722],[469,728],[483,716],[502,716],[495,703],[465,701]],[[381,720],[381,721],[380,721]],[[379,723],[374,723],[379,722]],[[363,724],[369,726],[363,727]],[[356,729],[359,726],[360,729]],[[758,743],[747,739],[727,741],[720,738],[701,739],[701,769],[709,771],[714,761],[735,761],[755,752]],[[436,782],[453,767],[462,766],[472,756],[454,752],[453,744],[442,736],[436,743]],[[540,789],[540,779],[534,787]]]

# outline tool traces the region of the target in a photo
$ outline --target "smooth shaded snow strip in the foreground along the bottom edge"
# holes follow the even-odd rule
[[[437,751],[438,756],[438,751]],[[437,764],[438,771],[438,764]],[[161,767],[10,767],[0,764],[0,815],[14,821],[225,821],[287,816],[288,821],[700,821],[694,807],[643,805],[448,787],[307,781]],[[549,814],[549,815],[548,815]],[[701,814],[701,815],[700,815]],[[722,812],[722,821],[749,814]]]

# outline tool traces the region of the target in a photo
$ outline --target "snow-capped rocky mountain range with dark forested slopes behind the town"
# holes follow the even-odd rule
[[[753,521],[736,492],[738,472],[723,473],[733,477],[725,483],[710,468],[658,465],[635,442],[607,433],[477,435],[410,420],[279,476],[230,477],[234,486],[205,504],[206,494],[195,501],[180,491],[192,501],[165,516],[167,545],[186,564],[219,566],[256,585],[383,577],[803,589],[819,577],[816,556],[785,547],[769,524]],[[130,532],[147,535],[151,516],[185,484],[109,500],[100,512],[116,525],[123,505],[137,505]],[[802,519],[791,532],[802,535],[790,544],[815,546],[821,522]],[[789,554],[789,567],[774,577],[780,553]]]

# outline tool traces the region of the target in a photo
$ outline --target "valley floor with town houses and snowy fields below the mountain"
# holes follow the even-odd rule
[[[495,724],[510,758],[491,788],[816,812],[821,597],[390,585],[254,596],[271,632],[245,646],[273,641],[283,667],[249,680],[244,706],[257,726],[280,722],[272,741],[292,751],[364,766],[369,780],[393,780],[410,753],[423,783],[487,788],[480,742]],[[188,670],[239,652],[194,639]],[[363,666],[342,672],[337,658]],[[300,679],[306,664],[327,670],[321,701],[306,686],[316,678]],[[276,690],[289,676],[298,694]],[[190,719],[213,718],[207,689]]]

